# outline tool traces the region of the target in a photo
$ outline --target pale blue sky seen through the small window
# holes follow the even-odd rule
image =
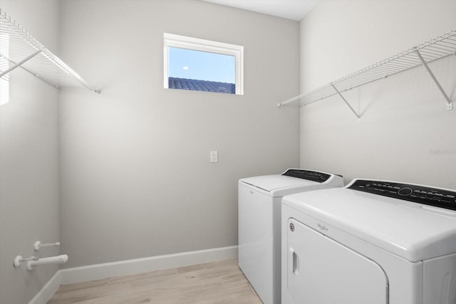
[[[169,48],[169,77],[236,83],[236,57]]]

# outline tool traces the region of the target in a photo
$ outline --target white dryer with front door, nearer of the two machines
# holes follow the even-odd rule
[[[456,304],[456,191],[354,179],[282,199],[282,304]]]

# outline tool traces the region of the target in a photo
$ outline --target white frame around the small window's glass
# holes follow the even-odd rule
[[[244,95],[244,46],[210,41],[188,36],[163,33],[163,87],[169,88],[169,53],[170,47],[185,48],[193,51],[218,53],[236,58],[235,95]]]

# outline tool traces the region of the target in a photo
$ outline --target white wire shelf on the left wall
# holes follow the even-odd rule
[[[9,80],[19,67],[55,88],[82,85],[100,93],[0,9],[0,77]]]

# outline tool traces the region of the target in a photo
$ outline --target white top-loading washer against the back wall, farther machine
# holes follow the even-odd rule
[[[288,169],[239,180],[239,267],[263,303],[277,304],[281,298],[282,196],[329,187],[343,187],[343,178]]]

